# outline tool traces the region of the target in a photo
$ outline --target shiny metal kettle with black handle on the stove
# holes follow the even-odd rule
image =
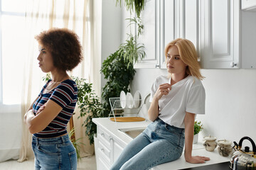
[[[242,150],[242,141],[249,140],[252,143],[252,151],[250,151],[250,147],[245,147]],[[255,142],[250,137],[242,137],[239,141],[234,142],[235,152],[230,157],[230,168],[236,170],[248,169],[248,170],[256,170],[256,147]]]

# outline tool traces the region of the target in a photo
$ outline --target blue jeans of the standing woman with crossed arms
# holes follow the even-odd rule
[[[52,138],[32,138],[35,169],[77,169],[78,158],[68,135]]]

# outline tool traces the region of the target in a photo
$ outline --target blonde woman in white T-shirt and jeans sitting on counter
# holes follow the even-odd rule
[[[151,86],[152,123],[124,148],[111,169],[151,169],[181,157],[184,145],[186,162],[210,160],[192,156],[194,120],[205,113],[206,98],[196,48],[178,38],[166,45],[165,55],[169,76],[157,77]]]

